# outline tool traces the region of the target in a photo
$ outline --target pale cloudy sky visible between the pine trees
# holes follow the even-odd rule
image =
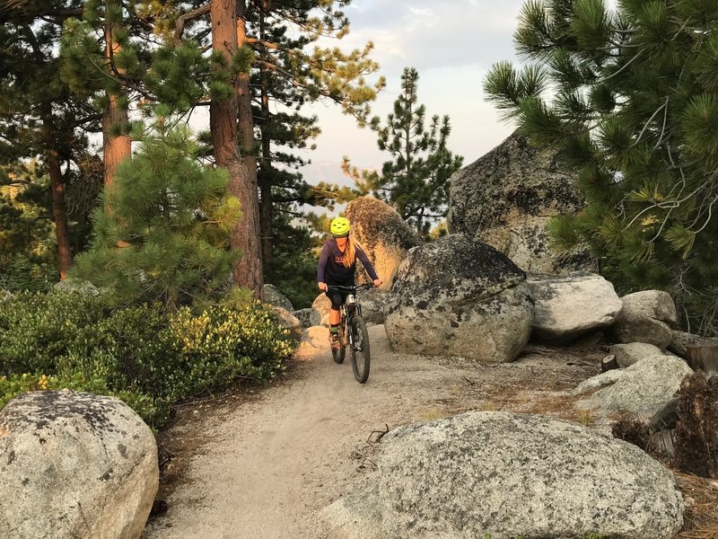
[[[386,87],[372,112],[382,123],[398,97],[404,67],[419,74],[418,102],[427,119],[448,114],[448,146],[473,163],[501,144],[514,128],[504,123],[494,105],[485,101],[483,80],[500,60],[517,62],[512,42],[524,0],[354,0],[345,8],[351,25],[343,40],[327,44],[345,51],[374,43],[372,58],[380,64]],[[322,44],[324,45],[324,43]],[[369,79],[374,80],[374,79]],[[376,144],[376,135],[356,126],[331,104],[302,109],[319,117],[317,149],[303,153],[311,164],[302,168],[307,181],[352,185],[340,168],[343,155],[360,169],[381,169],[389,160]],[[428,123],[428,122],[427,122]]]

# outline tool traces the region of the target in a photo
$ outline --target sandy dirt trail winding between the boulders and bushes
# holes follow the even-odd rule
[[[205,441],[144,539],[326,537],[318,511],[372,481],[372,431],[476,409],[561,415],[565,399],[552,392],[597,374],[604,355],[595,346],[530,347],[497,366],[402,356],[373,326],[372,371],[360,385],[348,356],[336,365],[326,340],[326,329],[311,328],[291,382],[173,427],[171,436]]]

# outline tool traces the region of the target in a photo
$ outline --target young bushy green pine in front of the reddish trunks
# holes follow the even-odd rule
[[[103,192],[90,250],[77,257],[73,276],[109,287],[121,302],[174,310],[216,300],[240,254],[227,249],[240,216],[227,195],[229,177],[199,163],[197,143],[179,121],[161,114],[152,132],[141,129],[133,130],[140,150]]]

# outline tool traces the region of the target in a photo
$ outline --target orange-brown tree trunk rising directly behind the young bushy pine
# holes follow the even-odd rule
[[[107,6],[118,4],[118,0],[107,0]],[[105,23],[105,57],[110,65],[112,58],[119,51],[119,43],[115,34],[119,30],[117,22]],[[118,164],[132,154],[132,139],[127,135],[113,135],[118,126],[125,128],[128,117],[127,110],[119,106],[118,94],[107,93],[109,105],[102,116],[102,150],[105,161],[105,187],[112,183]]]

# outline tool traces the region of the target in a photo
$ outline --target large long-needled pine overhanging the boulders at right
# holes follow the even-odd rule
[[[622,291],[670,290],[705,333],[718,331],[717,27],[703,0],[530,1],[514,34],[527,65],[485,81],[579,171],[588,205],[551,222],[556,246],[590,243]]]

